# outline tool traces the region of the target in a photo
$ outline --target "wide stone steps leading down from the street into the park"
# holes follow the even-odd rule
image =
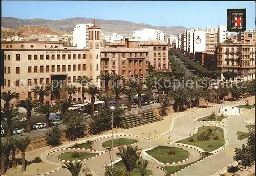
[[[136,126],[153,123],[162,120],[158,112],[152,108],[140,109],[138,115],[135,113],[126,113],[123,116],[122,128],[128,129]]]

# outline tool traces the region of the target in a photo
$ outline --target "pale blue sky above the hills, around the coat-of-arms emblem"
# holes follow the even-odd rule
[[[2,1],[2,17],[59,20],[86,17],[186,28],[227,24],[227,9],[246,8],[255,29],[254,1]]]

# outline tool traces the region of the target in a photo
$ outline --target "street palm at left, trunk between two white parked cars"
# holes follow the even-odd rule
[[[38,105],[38,100],[32,100],[32,98],[27,98],[26,100],[20,100],[17,107],[23,107],[27,110],[27,132],[30,133],[30,118],[31,111]]]

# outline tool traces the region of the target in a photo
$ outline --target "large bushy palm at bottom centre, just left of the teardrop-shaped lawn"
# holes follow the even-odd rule
[[[119,152],[116,153],[116,156],[122,158],[123,164],[128,172],[133,171],[140,156],[138,146],[118,147],[118,150]]]

